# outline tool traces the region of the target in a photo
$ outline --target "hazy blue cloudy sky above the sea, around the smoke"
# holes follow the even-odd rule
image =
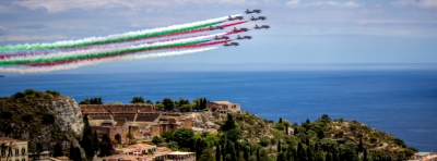
[[[437,63],[437,0],[5,0],[0,46],[165,27],[261,9],[239,47],[80,67]],[[225,65],[224,65],[225,66]]]

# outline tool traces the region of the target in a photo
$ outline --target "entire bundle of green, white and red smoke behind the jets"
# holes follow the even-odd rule
[[[0,66],[4,66],[0,67],[0,72],[50,72],[114,61],[172,57],[209,51],[217,48],[214,46],[233,41],[233,39],[228,39],[226,36],[243,33],[243,29],[233,29],[225,33],[213,30],[249,22],[225,23],[227,20],[228,16],[223,16],[190,24],[130,32],[106,37],[0,47]],[[210,35],[198,35],[199,33],[206,32]],[[158,50],[164,51],[158,52]]]

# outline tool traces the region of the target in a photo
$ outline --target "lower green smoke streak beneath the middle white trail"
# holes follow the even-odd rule
[[[182,47],[182,46],[191,46],[197,44],[203,44],[209,40],[192,40],[179,44],[169,44],[169,45],[156,45],[156,46],[143,46],[137,48],[128,48],[123,50],[115,50],[115,51],[105,51],[90,54],[81,54],[81,55],[70,55],[70,57],[54,57],[54,58],[39,58],[39,59],[20,59],[20,60],[0,60],[0,65],[21,65],[21,64],[32,64],[32,63],[49,63],[49,62],[58,62],[58,61],[72,61],[72,60],[84,60],[99,57],[111,57],[111,55],[122,55],[127,53],[134,53],[147,50],[158,50],[166,49],[173,47]]]

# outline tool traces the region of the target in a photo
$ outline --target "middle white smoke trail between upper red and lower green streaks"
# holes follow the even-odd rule
[[[143,48],[143,47],[177,45],[177,44],[197,41],[197,40],[202,40],[202,39],[211,39],[211,38],[214,38],[215,36],[223,36],[223,35],[226,35],[226,33],[218,33],[218,34],[198,36],[198,37],[189,37],[189,38],[184,38],[184,39],[176,39],[176,40],[155,42],[155,44],[144,44],[144,45],[138,45],[138,46],[127,46],[127,47],[116,47],[116,48],[96,48],[96,49],[90,49],[90,50],[56,52],[56,53],[49,53],[49,54],[13,57],[13,58],[9,58],[9,59],[0,60],[0,62],[10,61],[10,60],[29,60],[29,61],[32,61],[32,60],[37,60],[37,59],[51,59],[51,58],[62,58],[62,57],[72,57],[72,55],[95,54],[95,53],[120,51],[120,50],[127,50],[127,49],[139,49],[139,48]]]

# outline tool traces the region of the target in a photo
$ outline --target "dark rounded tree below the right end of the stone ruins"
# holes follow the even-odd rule
[[[189,128],[178,128],[175,132],[174,138],[179,147],[193,149],[194,132]]]

